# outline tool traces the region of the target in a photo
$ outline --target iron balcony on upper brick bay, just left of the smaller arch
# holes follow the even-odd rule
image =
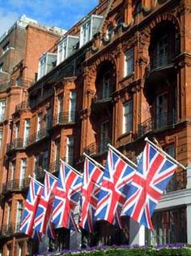
[[[65,125],[65,124],[74,124],[77,119],[77,112],[61,112],[56,117],[53,117],[53,126]]]

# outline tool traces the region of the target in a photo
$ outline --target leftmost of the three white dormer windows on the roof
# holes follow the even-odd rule
[[[39,59],[38,80],[50,72],[57,60],[57,54],[45,53]]]

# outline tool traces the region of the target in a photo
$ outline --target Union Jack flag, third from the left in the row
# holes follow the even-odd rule
[[[55,227],[79,231],[74,220],[74,209],[79,203],[81,188],[82,176],[62,162],[53,202],[52,222]]]

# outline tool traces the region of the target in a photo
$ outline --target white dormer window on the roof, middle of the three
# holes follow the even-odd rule
[[[58,44],[57,65],[76,51],[78,43],[79,37],[67,36],[62,38]]]

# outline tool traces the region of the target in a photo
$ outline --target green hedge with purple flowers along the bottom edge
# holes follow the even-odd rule
[[[187,245],[160,245],[159,247],[128,247],[128,246],[112,246],[112,247],[95,247],[79,249],[77,251],[63,250],[62,252],[54,252],[39,255],[51,256],[191,256],[191,248]]]

